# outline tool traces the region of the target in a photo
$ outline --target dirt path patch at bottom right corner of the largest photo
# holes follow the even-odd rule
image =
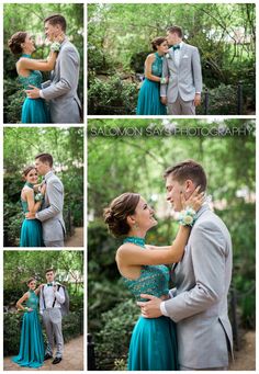
[[[229,371],[255,371],[256,370],[256,332],[247,331],[241,340],[240,351],[235,352],[235,362]]]

